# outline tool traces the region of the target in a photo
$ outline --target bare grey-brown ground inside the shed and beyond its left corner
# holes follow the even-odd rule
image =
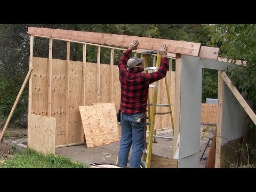
[[[200,157],[207,145],[207,141],[209,141],[209,138],[213,137],[214,131],[215,126],[201,125]],[[7,135],[11,140],[27,145],[27,129],[7,129],[5,131],[5,135]],[[156,135],[161,137],[173,137],[172,129],[158,130]],[[157,143],[153,143],[153,154],[172,157],[172,139],[156,137],[154,140],[156,140]],[[118,149],[119,142],[113,142],[108,145],[90,148],[87,148],[86,145],[60,147],[55,149],[55,154],[68,156],[73,161],[82,162],[87,165],[90,163],[100,162],[116,163]],[[201,168],[204,168],[205,166],[209,149],[210,147],[206,147],[202,161],[199,161],[198,159],[199,167]],[[3,141],[0,142],[0,162],[6,157],[11,156],[11,146],[7,145]]]

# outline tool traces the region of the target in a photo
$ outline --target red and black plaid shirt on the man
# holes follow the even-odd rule
[[[126,115],[133,115],[147,110],[148,87],[165,77],[169,63],[162,57],[161,66],[154,73],[140,73],[127,70],[127,61],[131,50],[127,49],[119,60],[119,80],[121,82],[121,111]]]

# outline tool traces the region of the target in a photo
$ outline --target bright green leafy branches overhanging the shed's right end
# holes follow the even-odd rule
[[[221,45],[221,57],[235,63],[246,61],[246,67],[228,69],[228,75],[239,92],[246,92],[246,100],[256,108],[256,25],[216,24],[210,29],[211,45]],[[232,76],[231,76],[232,74]]]

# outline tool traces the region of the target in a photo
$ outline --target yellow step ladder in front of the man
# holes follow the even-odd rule
[[[157,54],[157,60],[156,60],[156,67],[148,67],[148,55],[149,54]],[[158,68],[161,65],[161,58],[162,55],[158,51],[145,51],[141,52],[141,58],[145,58],[144,61],[144,69],[146,73],[148,73],[148,70],[154,70],[157,71]],[[172,108],[171,108],[171,99],[170,99],[170,92],[169,92],[169,86],[167,83],[167,78],[166,76],[164,77],[165,80],[165,86],[166,86],[166,92],[167,92],[167,99],[168,99],[168,104],[157,104],[157,94],[158,94],[158,82],[154,82],[154,84],[150,84],[149,87],[154,87],[154,95],[153,95],[153,102],[150,103],[150,98],[149,98],[149,92],[148,92],[148,125],[149,125],[149,137],[148,137],[148,143],[145,143],[145,152],[147,154],[146,162],[142,166],[145,168],[150,168],[150,162],[151,162],[151,154],[152,154],[152,147],[153,147],[153,136],[154,136],[154,129],[155,129],[155,117],[156,115],[165,115],[165,114],[170,114],[171,116],[171,123],[172,123],[172,130],[173,130],[173,135],[174,135],[174,123],[173,123],[173,116],[172,116]],[[152,106],[152,111],[150,109],[150,106]],[[166,113],[156,113],[156,107],[169,107],[169,112]],[[146,121],[145,121],[146,123]],[[147,128],[147,127],[146,127]],[[146,134],[147,129],[145,130]],[[146,135],[145,135],[146,138]]]

